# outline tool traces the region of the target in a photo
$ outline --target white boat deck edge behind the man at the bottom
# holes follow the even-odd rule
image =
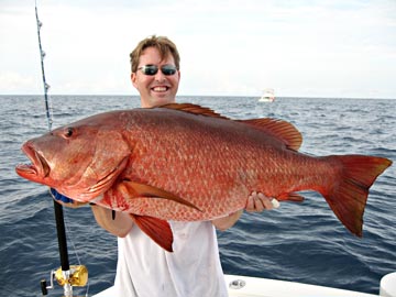
[[[240,275],[224,275],[230,297],[396,297],[396,272],[381,279],[380,295],[348,289],[309,285],[296,282],[260,278]],[[113,288],[94,295],[94,297],[112,297]]]

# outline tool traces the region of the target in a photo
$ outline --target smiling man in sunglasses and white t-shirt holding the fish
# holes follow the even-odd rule
[[[131,80],[143,108],[175,102],[180,79],[179,54],[167,37],[151,36],[131,53]],[[233,226],[242,210],[212,221],[169,222],[173,253],[160,248],[128,213],[91,206],[99,226],[118,237],[114,296],[228,296],[216,230]],[[272,209],[270,199],[253,194],[246,210]]]

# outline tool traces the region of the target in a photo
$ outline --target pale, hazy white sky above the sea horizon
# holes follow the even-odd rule
[[[0,95],[43,92],[34,0],[0,0]],[[396,98],[395,0],[37,0],[52,95],[138,95],[129,54],[180,53],[180,96]]]

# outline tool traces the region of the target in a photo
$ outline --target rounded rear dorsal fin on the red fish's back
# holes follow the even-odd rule
[[[271,119],[239,120],[239,122],[252,125],[280,140],[289,150],[298,151],[302,143],[301,133],[292,123]]]

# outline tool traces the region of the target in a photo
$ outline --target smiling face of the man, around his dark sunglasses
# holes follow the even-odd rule
[[[162,61],[160,52],[155,47],[147,47],[140,56],[138,68],[145,65],[155,65],[160,69],[153,76],[145,75],[140,69],[131,75],[132,84],[141,95],[142,107],[150,108],[175,102],[180,72],[177,70],[174,75],[168,76],[161,72],[161,67],[164,65],[175,66],[173,56],[169,55]]]

